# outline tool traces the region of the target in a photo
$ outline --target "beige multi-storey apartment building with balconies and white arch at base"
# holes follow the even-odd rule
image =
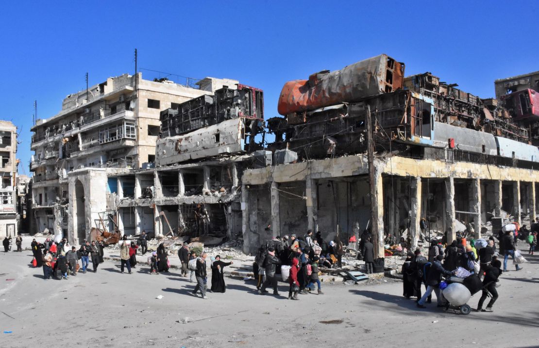
[[[31,129],[33,232],[87,238],[107,211],[108,176],[153,166],[160,112],[235,83],[208,77],[192,88],[123,74],[68,95]]]

